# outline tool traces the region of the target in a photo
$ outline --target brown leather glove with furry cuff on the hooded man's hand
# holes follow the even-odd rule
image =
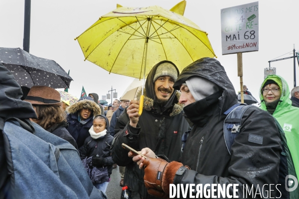
[[[169,184],[173,183],[176,171],[183,165],[175,161],[168,163],[161,158],[147,158],[143,164],[148,193],[163,199],[169,198]]]

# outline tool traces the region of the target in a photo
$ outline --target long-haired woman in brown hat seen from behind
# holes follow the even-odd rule
[[[25,101],[32,104],[36,112],[37,119],[31,121],[40,125],[54,135],[71,143],[76,149],[77,143],[65,128],[66,115],[60,107],[60,94],[55,89],[45,86],[34,86],[30,89]]]

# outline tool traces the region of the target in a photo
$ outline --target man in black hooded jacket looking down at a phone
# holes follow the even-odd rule
[[[145,171],[144,180],[150,194],[169,198],[170,184],[174,184],[177,191],[180,184],[184,188],[189,186],[189,189],[180,189],[187,194],[183,196],[182,192],[177,194],[175,191],[173,198],[290,199],[283,183],[278,183],[285,180],[288,172],[283,171],[288,169],[280,167],[285,153],[282,153],[283,142],[274,118],[267,111],[252,106],[246,107],[242,121],[237,117],[237,111],[229,118],[231,121],[226,119],[228,112],[239,104],[234,86],[220,62],[207,57],[193,62],[184,68],[173,87],[181,92],[179,102],[185,104],[184,114],[192,129],[183,136],[185,144],[180,162],[168,163],[156,158],[157,153],[148,148],[141,151],[147,159],[140,155],[133,158]],[[236,120],[240,122],[238,127],[224,125],[224,122],[234,123]],[[240,133],[231,145],[229,139],[224,138],[224,128],[230,128],[231,134]],[[129,152],[129,156],[132,155]],[[270,184],[282,186],[272,189]],[[191,189],[190,185],[195,186]],[[229,185],[236,185],[237,189]],[[219,187],[226,190],[221,193]],[[246,191],[247,187],[252,189],[250,193]]]

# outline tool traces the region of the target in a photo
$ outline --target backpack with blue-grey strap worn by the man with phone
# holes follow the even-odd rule
[[[242,125],[241,120],[242,120],[243,114],[250,107],[256,107],[256,106],[238,103],[238,104],[233,105],[227,111],[224,112],[224,114],[227,116],[224,120],[223,132],[224,132],[225,144],[226,144],[229,154],[231,154],[231,146],[233,145],[235,138],[240,134],[240,129],[241,129],[241,125]],[[280,126],[277,119],[275,119],[275,117],[273,117],[273,118],[274,118],[277,128],[279,130],[281,144],[282,144],[282,148],[283,148],[283,151],[280,156],[281,160],[280,160],[280,166],[279,166],[279,181],[277,183],[277,184],[281,184],[280,186],[277,186],[277,188],[281,192],[281,194],[279,192],[277,192],[277,197],[280,197],[280,195],[281,195],[282,196],[281,199],[298,199],[299,189],[296,189],[292,192],[288,192],[285,188],[285,185],[287,183],[289,184],[289,181],[290,181],[290,178],[286,179],[286,176],[293,175],[297,178],[297,175],[296,175],[292,155],[291,155],[291,152],[287,145],[287,139],[285,136],[285,132],[282,129],[282,127]]]

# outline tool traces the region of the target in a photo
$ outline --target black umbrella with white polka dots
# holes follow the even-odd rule
[[[69,88],[73,80],[55,61],[36,57],[20,48],[0,48],[0,63],[12,72],[20,86]]]

